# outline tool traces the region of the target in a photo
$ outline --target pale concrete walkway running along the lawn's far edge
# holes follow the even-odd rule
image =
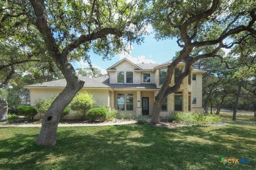
[[[116,123],[81,123],[81,124],[58,124],[58,127],[90,127],[90,126],[112,126],[134,124],[136,121],[123,121]],[[42,124],[7,124],[0,123],[0,127],[41,127]]]

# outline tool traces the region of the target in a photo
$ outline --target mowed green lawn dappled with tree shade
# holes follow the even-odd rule
[[[34,145],[40,128],[0,128],[3,170],[255,170],[256,119],[221,115],[222,127],[59,127],[55,147]],[[249,164],[220,163],[250,158]]]

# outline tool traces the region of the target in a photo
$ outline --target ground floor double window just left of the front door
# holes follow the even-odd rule
[[[132,93],[118,93],[117,94],[117,109],[133,110],[133,94]]]

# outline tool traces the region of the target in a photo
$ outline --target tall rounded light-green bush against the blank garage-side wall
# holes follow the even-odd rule
[[[92,99],[92,94],[87,92],[78,92],[78,94],[73,98],[70,103],[70,108],[85,120],[88,110],[90,110],[95,104],[95,100]]]

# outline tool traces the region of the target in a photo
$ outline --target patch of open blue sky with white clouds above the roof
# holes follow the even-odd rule
[[[90,59],[93,67],[100,69],[103,74],[106,74],[107,68],[122,60],[124,57],[135,64],[142,62],[162,64],[172,60],[175,53],[180,50],[181,48],[178,47],[175,39],[156,41],[154,35],[150,34],[145,36],[144,43],[141,43],[141,45],[132,44],[130,54],[122,53],[116,55],[110,61],[103,61],[102,57],[90,53]],[[83,61],[72,63],[72,65],[75,69],[88,67],[88,63],[84,63]]]

